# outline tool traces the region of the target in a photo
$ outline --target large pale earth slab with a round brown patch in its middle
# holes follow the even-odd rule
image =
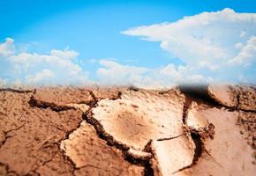
[[[126,91],[120,99],[99,101],[88,118],[98,121],[115,143],[133,151],[143,151],[151,139],[184,133],[183,106],[184,95],[177,90],[164,94]]]

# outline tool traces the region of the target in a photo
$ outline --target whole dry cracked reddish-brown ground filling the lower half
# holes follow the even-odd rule
[[[0,175],[254,175],[250,85],[0,90]]]

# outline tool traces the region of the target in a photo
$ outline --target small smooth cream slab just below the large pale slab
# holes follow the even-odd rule
[[[189,135],[165,141],[153,141],[152,152],[156,162],[154,174],[168,176],[192,165],[195,145]]]

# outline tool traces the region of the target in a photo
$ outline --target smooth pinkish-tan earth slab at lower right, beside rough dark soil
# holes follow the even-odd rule
[[[199,121],[197,125],[192,124],[199,128],[212,123],[215,126],[215,137],[201,138],[204,150],[197,164],[178,174],[253,175],[256,172],[256,167],[252,164],[253,150],[237,126],[238,112],[199,105],[189,109],[187,119]]]

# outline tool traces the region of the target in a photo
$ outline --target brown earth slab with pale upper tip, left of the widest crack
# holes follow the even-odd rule
[[[125,161],[122,151],[108,146],[86,121],[82,121],[60,147],[72,159],[77,174],[80,169],[83,174],[92,174],[94,170],[94,175],[142,175],[144,169]]]

